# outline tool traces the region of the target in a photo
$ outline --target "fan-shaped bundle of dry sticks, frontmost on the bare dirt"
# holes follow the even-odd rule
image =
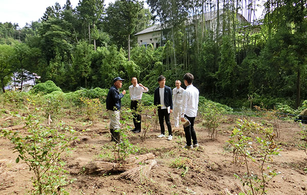
[[[135,182],[138,182],[138,183],[144,183],[143,179],[147,180],[151,168],[153,166],[157,165],[156,160],[147,160],[145,162],[148,163],[148,164],[127,170],[126,172],[120,174],[119,178],[126,178],[126,179],[129,179],[129,180],[133,180]]]

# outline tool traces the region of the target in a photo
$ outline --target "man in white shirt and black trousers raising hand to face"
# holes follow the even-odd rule
[[[141,132],[141,115],[137,112],[140,112],[138,109],[138,105],[142,99],[143,92],[147,92],[148,88],[143,86],[141,83],[138,84],[138,80],[136,77],[131,78],[132,85],[129,86],[129,93],[130,93],[130,109],[134,110],[133,112],[133,123],[135,125],[135,129],[132,130],[134,133]]]

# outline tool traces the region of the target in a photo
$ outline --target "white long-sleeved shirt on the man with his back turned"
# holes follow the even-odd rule
[[[182,114],[189,117],[196,117],[199,103],[200,91],[192,84],[188,85],[182,94]]]

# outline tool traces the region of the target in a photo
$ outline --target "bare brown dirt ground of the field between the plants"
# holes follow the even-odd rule
[[[9,127],[15,125],[9,115],[0,117],[0,124]],[[79,159],[102,160],[107,156],[104,149],[112,148],[107,117],[100,117],[95,126],[84,125],[82,115],[74,115],[63,120],[78,131],[83,141],[78,141],[75,150],[69,156],[64,156],[66,169]],[[158,138],[160,128],[147,132],[147,138],[141,141],[141,134],[128,133],[130,143],[139,148],[139,154],[151,152],[155,154],[157,165],[152,168],[149,180],[143,184],[127,179],[119,179],[119,174],[106,176],[71,174],[75,182],[65,186],[70,194],[238,194],[249,190],[234,177],[243,176],[245,165],[233,163],[233,153],[227,143],[237,115],[227,115],[219,129],[217,140],[211,141],[208,132],[196,120],[196,134],[200,147],[198,149],[182,149],[185,138],[173,136],[173,140]],[[197,119],[197,118],[196,118]],[[256,121],[261,118],[252,118]],[[132,123],[130,124],[132,125]],[[133,125],[132,125],[133,126]],[[307,194],[307,155],[298,150],[301,128],[297,123],[279,120],[280,137],[276,138],[282,151],[273,157],[270,163],[272,169],[280,172],[268,184],[267,194]],[[167,131],[166,131],[167,134]],[[167,136],[166,136],[167,137]],[[12,152],[12,144],[6,138],[0,138],[0,194],[26,194],[32,188],[30,178],[32,173],[25,163],[15,163],[17,153]],[[138,153],[137,153],[138,154]],[[135,154],[135,155],[137,155]],[[186,173],[182,168],[174,168],[171,163],[176,159],[187,158]],[[251,164],[252,172],[257,172],[257,163]]]

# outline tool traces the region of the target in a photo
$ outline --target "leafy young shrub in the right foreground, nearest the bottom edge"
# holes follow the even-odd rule
[[[241,178],[235,174],[243,186],[247,185],[251,191],[248,194],[266,194],[266,186],[279,173],[271,169],[267,163],[272,161],[273,155],[279,154],[279,148],[275,143],[272,128],[267,128],[253,121],[238,120],[238,127],[233,128],[231,138],[228,141],[234,148],[234,162],[238,165],[245,164],[247,172]],[[257,133],[259,136],[253,137]],[[257,166],[253,166],[253,164]],[[251,167],[258,167],[257,175]]]

